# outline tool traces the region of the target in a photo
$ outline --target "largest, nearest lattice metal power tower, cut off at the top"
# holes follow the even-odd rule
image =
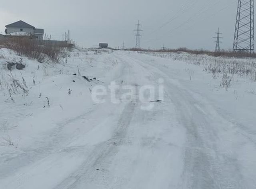
[[[238,0],[233,52],[254,53],[254,0]]]

